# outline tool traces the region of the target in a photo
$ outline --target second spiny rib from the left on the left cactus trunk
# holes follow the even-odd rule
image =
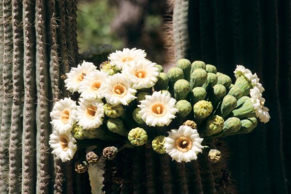
[[[21,100],[23,91],[23,47],[21,39],[23,30],[20,28],[22,19],[22,2],[13,1],[12,27],[13,27],[13,106],[11,118],[10,144],[9,144],[9,193],[17,193],[18,185],[21,185],[19,172],[21,172],[22,161],[17,158],[21,156],[22,137],[22,111]]]

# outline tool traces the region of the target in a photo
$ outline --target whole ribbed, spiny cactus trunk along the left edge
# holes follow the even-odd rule
[[[68,95],[61,76],[78,63],[76,3],[0,1],[0,193],[73,192],[49,135],[52,105]]]

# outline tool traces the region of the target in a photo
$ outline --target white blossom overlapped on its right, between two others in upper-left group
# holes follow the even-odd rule
[[[95,70],[89,73],[80,84],[81,97],[88,101],[102,99],[104,96],[101,85],[107,79],[108,75],[105,72]]]

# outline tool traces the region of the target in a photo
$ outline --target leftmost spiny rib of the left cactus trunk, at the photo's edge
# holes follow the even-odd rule
[[[8,147],[11,126],[11,107],[13,100],[11,98],[12,84],[12,50],[13,50],[13,33],[12,33],[12,5],[11,1],[3,1],[3,26],[4,26],[4,55],[3,55],[3,112],[0,134],[0,192],[8,193]]]

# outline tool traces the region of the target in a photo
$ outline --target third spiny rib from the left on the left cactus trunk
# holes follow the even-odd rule
[[[33,33],[34,15],[30,0],[23,1],[23,39],[24,39],[24,110],[22,134],[22,193],[34,193],[35,179],[35,35]]]

